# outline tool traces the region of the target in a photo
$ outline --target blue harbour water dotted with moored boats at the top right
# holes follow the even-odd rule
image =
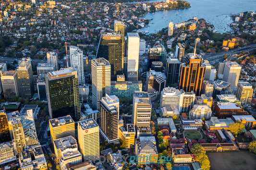
[[[149,0],[146,2],[156,2]],[[149,12],[141,18],[151,20],[148,27],[141,31],[156,33],[167,27],[169,22],[180,23],[197,17],[204,18],[208,23],[214,25],[219,33],[231,31],[229,25],[232,23],[232,14],[245,11],[256,11],[256,0],[186,0],[191,8]]]

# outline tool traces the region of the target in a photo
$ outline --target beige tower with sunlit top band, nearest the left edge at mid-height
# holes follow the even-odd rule
[[[5,98],[20,96],[17,71],[4,72],[1,76],[1,82]]]

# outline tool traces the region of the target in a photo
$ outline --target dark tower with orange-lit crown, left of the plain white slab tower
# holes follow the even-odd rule
[[[104,33],[100,36],[97,58],[105,58],[111,65],[111,80],[123,73],[122,35],[118,33]]]

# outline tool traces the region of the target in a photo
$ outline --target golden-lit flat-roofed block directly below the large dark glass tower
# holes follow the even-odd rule
[[[73,136],[75,138],[74,121],[70,115],[49,120],[51,141]]]

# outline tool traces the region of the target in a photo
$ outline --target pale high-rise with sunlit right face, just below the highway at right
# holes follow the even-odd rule
[[[223,71],[223,81],[230,83],[230,87],[236,87],[238,84],[241,66],[236,62],[226,62]]]

